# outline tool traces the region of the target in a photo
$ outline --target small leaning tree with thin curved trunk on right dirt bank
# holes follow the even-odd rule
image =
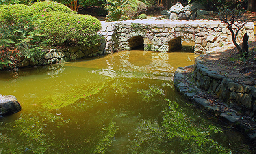
[[[235,9],[224,9],[218,14],[218,17],[221,22],[228,24],[228,30],[231,32],[232,41],[239,53],[242,53],[241,47],[236,43],[236,38],[239,30],[247,24],[244,12]]]

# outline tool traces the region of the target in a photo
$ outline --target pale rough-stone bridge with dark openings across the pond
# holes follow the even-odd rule
[[[101,50],[105,54],[143,47],[148,51],[168,52],[181,48],[181,42],[192,42],[195,53],[210,53],[221,46],[232,44],[227,24],[213,20],[126,20],[101,21],[104,36]],[[247,23],[240,32],[254,39],[254,23]]]

